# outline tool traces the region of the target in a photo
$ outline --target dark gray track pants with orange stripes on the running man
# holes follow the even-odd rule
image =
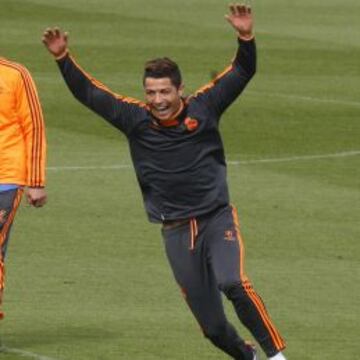
[[[180,226],[162,229],[166,253],[204,335],[234,359],[252,359],[227,321],[221,291],[267,356],[285,348],[264,303],[244,273],[244,247],[236,209],[227,206]]]

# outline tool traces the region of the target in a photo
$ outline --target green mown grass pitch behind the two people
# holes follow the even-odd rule
[[[258,73],[221,125],[246,269],[289,360],[357,359],[360,3],[252,4]],[[226,7],[1,0],[0,53],[34,75],[49,145],[49,203],[23,202],[8,249],[0,332],[13,352],[1,359],[227,358],[202,338],[173,281],[124,136],[72,98],[40,40],[48,26],[68,30],[83,68],[138,98],[144,62],[170,56],[191,92],[233,56]]]

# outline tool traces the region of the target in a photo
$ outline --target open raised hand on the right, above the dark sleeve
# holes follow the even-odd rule
[[[243,39],[253,37],[253,17],[251,7],[244,4],[230,4],[230,14],[225,15],[226,20],[239,33]]]

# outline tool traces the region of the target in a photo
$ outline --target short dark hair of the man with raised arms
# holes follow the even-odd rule
[[[144,68],[143,84],[145,84],[145,79],[148,77],[155,79],[167,77],[177,89],[182,83],[181,72],[178,64],[168,57],[147,61]]]

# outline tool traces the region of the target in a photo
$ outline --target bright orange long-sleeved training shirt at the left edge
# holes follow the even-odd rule
[[[0,184],[45,185],[45,125],[34,81],[0,58]]]

